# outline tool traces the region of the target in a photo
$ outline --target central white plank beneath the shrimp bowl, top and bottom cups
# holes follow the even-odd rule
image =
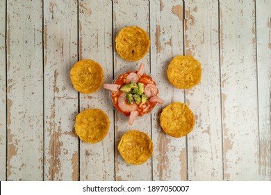
[[[113,26],[114,26],[114,47],[115,37],[120,29],[125,26],[140,26],[149,32],[149,1],[113,1]],[[145,63],[146,70],[150,70],[149,53],[138,62],[124,61],[114,49],[114,75],[122,72],[138,69],[140,63]],[[120,114],[115,114],[115,174],[116,180],[151,180],[151,159],[145,164],[135,166],[126,164],[117,150],[117,145],[128,130],[140,130],[151,137],[151,116],[142,120],[136,120],[132,126],[128,120]]]

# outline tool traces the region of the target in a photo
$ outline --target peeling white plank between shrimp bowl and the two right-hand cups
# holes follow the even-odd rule
[[[167,66],[174,56],[183,55],[183,2],[151,1],[151,75],[157,79],[165,104],[152,114],[154,180],[187,180],[186,137],[174,138],[163,132],[160,114],[172,102],[183,102],[183,90],[167,79]]]

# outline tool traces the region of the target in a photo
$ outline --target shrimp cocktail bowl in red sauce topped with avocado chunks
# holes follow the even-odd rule
[[[145,65],[140,64],[136,71],[128,71],[115,79],[113,84],[104,84],[111,91],[114,107],[125,116],[129,116],[129,125],[133,125],[138,116],[148,114],[156,104],[163,104],[158,97],[158,88],[151,76],[145,73]]]

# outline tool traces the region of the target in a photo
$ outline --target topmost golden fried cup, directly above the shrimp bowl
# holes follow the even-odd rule
[[[149,36],[138,26],[122,29],[116,37],[116,50],[122,59],[138,61],[149,51]]]

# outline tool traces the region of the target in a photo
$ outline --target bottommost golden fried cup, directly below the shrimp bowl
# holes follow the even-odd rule
[[[143,164],[151,157],[154,146],[147,134],[138,130],[126,132],[117,149],[129,164]]]

